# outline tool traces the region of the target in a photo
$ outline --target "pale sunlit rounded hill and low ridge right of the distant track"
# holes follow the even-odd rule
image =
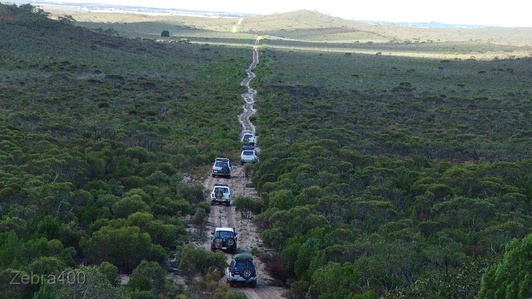
[[[242,31],[284,39],[321,42],[433,42],[475,41],[501,45],[532,45],[532,28],[475,27],[442,23],[401,23],[353,21],[316,11],[293,11],[252,16],[242,22]],[[467,28],[464,28],[467,27]]]

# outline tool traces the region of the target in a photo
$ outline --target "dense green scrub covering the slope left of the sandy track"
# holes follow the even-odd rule
[[[67,292],[10,286],[11,272],[79,264],[101,287],[87,297],[129,296],[119,271],[131,296],[177,296],[161,267],[204,200],[182,173],[238,148],[246,53],[112,37],[31,5],[0,5],[0,27],[1,296]]]

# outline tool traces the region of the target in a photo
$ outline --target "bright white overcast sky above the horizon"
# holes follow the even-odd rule
[[[54,0],[52,0],[54,1]],[[57,1],[57,0],[55,0]],[[389,22],[442,22],[447,24],[532,27],[532,0],[66,0],[116,5],[234,13],[271,14],[294,10],[316,10],[345,19]]]

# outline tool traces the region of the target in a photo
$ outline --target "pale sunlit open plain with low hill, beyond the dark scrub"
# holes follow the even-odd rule
[[[532,55],[530,28],[419,28],[350,21],[311,11],[245,17],[232,33],[238,18],[102,13],[50,7],[54,17],[69,14],[88,28],[114,29],[119,35],[161,39],[162,30],[171,37],[198,42],[244,44],[253,35],[262,35],[273,47],[320,49],[416,57],[477,59],[528,57]]]

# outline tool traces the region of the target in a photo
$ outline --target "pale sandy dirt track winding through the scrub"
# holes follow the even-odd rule
[[[257,37],[255,40],[255,45],[253,46],[253,61],[250,66],[247,67],[246,73],[247,77],[242,80],[240,85],[246,86],[247,91],[242,93],[242,98],[245,100],[243,105],[244,112],[238,115],[240,123],[242,123],[242,134],[244,133],[253,133],[255,134],[255,126],[250,122],[250,116],[256,113],[256,109],[253,108],[255,103],[256,90],[250,87],[250,82],[255,78],[255,73],[253,69],[259,63],[259,52],[257,46],[259,45],[261,37]],[[258,150],[258,148],[257,148]],[[207,190],[212,190],[214,183],[223,183],[228,184],[231,190],[231,198],[234,199],[238,195],[246,195],[250,197],[258,197],[257,192],[254,188],[246,187],[248,183],[244,177],[243,168],[240,165],[237,165],[238,161],[234,161],[234,165],[231,172],[231,178],[214,178],[209,176],[205,182],[205,188]],[[237,253],[250,253],[253,247],[259,247],[262,250],[268,250],[264,248],[261,243],[260,234],[257,231],[256,227],[253,225],[250,219],[244,219],[239,212],[235,211],[235,206],[232,205],[222,206],[220,204],[215,204],[211,206],[211,214],[209,219],[209,225],[211,231],[214,231],[216,227],[235,227],[238,232],[238,249]],[[207,240],[203,243],[203,246],[210,250],[210,237],[207,236]],[[228,262],[232,257],[231,253],[226,253]],[[281,298],[284,293],[282,287],[277,286],[278,283],[275,279],[272,279],[268,272],[265,270],[264,264],[259,260],[255,259],[255,266],[257,271],[257,286],[256,288],[238,286],[240,291],[243,291],[251,299],[273,299]],[[226,279],[223,277],[222,279]]]

